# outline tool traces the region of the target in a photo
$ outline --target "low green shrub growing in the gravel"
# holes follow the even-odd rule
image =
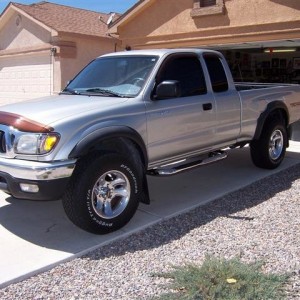
[[[170,292],[157,299],[184,300],[275,300],[282,292],[287,275],[264,274],[262,263],[244,264],[206,257],[202,266],[184,265],[156,276],[172,279]]]

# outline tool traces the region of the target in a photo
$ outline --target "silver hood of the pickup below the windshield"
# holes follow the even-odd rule
[[[57,95],[4,105],[0,107],[0,112],[24,116],[51,125],[61,119],[88,111],[104,111],[110,106],[116,106],[127,100],[128,98],[118,97]]]

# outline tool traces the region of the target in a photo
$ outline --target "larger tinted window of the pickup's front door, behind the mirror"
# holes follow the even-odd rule
[[[165,80],[177,80],[181,85],[181,97],[206,93],[206,84],[198,57],[173,55],[167,58],[158,72],[157,84]]]

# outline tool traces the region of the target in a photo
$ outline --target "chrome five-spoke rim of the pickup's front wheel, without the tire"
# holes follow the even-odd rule
[[[129,180],[122,172],[106,172],[93,187],[93,209],[104,219],[117,217],[126,209],[130,193]]]

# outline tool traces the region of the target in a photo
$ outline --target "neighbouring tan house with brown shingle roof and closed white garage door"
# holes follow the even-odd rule
[[[58,93],[92,59],[116,51],[109,19],[46,1],[10,2],[0,16],[0,104]]]

